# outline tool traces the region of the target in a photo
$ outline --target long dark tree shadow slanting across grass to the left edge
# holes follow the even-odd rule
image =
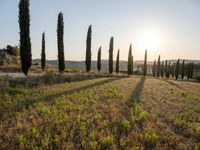
[[[0,119],[2,118],[3,114],[8,113],[8,112],[21,112],[24,109],[27,109],[31,106],[33,106],[34,104],[36,104],[37,102],[50,102],[56,99],[56,97],[60,96],[60,95],[68,95],[68,94],[73,94],[75,92],[80,92],[82,90],[87,90],[89,88],[92,87],[96,87],[96,86],[100,86],[106,83],[110,83],[113,82],[115,80],[119,80],[125,77],[113,77],[113,78],[109,78],[106,79],[104,81],[100,81],[100,82],[95,82],[83,87],[79,87],[79,88],[75,88],[75,89],[69,89],[63,92],[59,92],[59,93],[55,93],[55,94],[50,94],[47,96],[41,96],[38,98],[34,98],[34,99],[24,99],[20,102],[18,102],[17,104],[13,105],[13,106],[9,106],[9,107],[4,107],[4,108],[0,108]]]

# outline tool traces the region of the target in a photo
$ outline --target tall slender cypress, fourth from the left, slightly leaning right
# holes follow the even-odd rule
[[[91,47],[92,47],[92,25],[90,25],[88,28],[87,39],[86,39],[85,65],[86,65],[87,72],[91,70],[91,57],[92,57]]]

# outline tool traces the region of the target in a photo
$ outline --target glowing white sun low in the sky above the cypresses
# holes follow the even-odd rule
[[[138,38],[138,47],[140,49],[147,49],[156,51],[160,48],[161,36],[156,32],[144,32]]]

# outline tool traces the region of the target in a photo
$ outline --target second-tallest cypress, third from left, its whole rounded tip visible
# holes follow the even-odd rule
[[[63,13],[58,14],[58,25],[57,25],[57,43],[58,43],[58,67],[59,71],[65,70],[65,57],[64,57],[64,20]]]

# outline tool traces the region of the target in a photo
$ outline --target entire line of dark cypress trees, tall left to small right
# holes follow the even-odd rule
[[[31,38],[30,38],[30,10],[29,0],[19,1],[19,28],[20,28],[20,59],[21,59],[21,69],[25,75],[27,75],[31,64],[32,64],[32,53],[31,53]],[[44,71],[46,66],[46,49],[45,49],[45,33],[42,33],[42,50],[41,50],[41,68]],[[58,49],[58,68],[59,72],[63,73],[65,70],[65,55],[64,55],[64,17],[63,13],[58,14],[57,20],[57,49]],[[109,56],[108,56],[108,68],[109,73],[114,72],[113,69],[113,52],[114,52],[114,37],[110,38],[109,44]],[[101,54],[102,47],[99,47],[97,53],[97,70],[101,72]],[[86,72],[91,71],[91,58],[92,58],[92,25],[88,27],[87,37],[86,37],[86,54],[85,54],[85,66]],[[119,61],[120,60],[120,50],[117,52],[116,56],[116,66],[115,72],[119,73]],[[154,60],[152,66],[152,75],[154,77],[170,77],[178,79],[187,77],[191,79],[193,77],[194,63],[185,63],[185,61],[180,64],[180,60],[176,63],[171,64],[170,61],[161,61],[161,57],[158,60]],[[145,50],[144,55],[144,65],[143,65],[143,75],[147,75],[147,50]],[[132,44],[130,44],[128,52],[128,65],[127,73],[133,74],[133,54],[132,54]]]

